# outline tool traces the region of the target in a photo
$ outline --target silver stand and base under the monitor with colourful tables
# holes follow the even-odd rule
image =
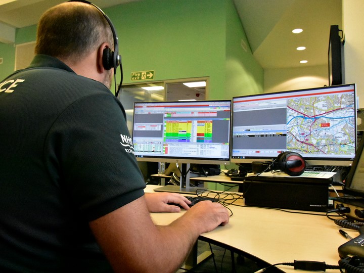
[[[191,186],[190,184],[190,164],[181,164],[179,186],[167,185],[154,189],[155,192],[169,192],[169,193],[185,193],[196,194],[197,190],[206,190],[206,188]]]

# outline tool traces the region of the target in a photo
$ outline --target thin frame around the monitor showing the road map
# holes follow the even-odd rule
[[[232,120],[231,120],[231,129],[232,132],[230,133],[231,135],[231,163],[235,163],[235,164],[240,164],[240,163],[252,163],[255,161],[259,161],[259,162],[264,162],[267,160],[272,160],[275,159],[278,155],[279,152],[277,152],[276,156],[273,157],[254,157],[254,156],[250,156],[250,157],[245,157],[245,158],[236,158],[233,157],[233,146],[234,146],[234,138],[233,138],[233,127],[234,127],[234,101],[237,99],[241,99],[241,98],[249,98],[249,97],[262,97],[262,96],[267,96],[267,95],[271,95],[271,94],[290,94],[290,93],[295,93],[295,92],[309,92],[310,90],[315,90],[315,89],[334,89],[334,88],[340,88],[340,87],[346,87],[346,86],[353,86],[354,87],[354,104],[355,104],[355,150],[357,149],[357,120],[356,120],[356,110],[357,110],[357,95],[356,95],[356,84],[355,83],[350,83],[350,84],[340,84],[340,85],[332,85],[332,86],[319,86],[319,87],[314,87],[314,88],[305,88],[305,89],[296,89],[296,90],[287,90],[287,91],[282,91],[282,92],[275,92],[275,93],[263,93],[263,94],[254,94],[254,95],[245,95],[245,96],[237,96],[237,97],[233,97],[232,99]],[[288,151],[288,150],[286,150]],[[307,162],[307,165],[321,165],[321,166],[351,166],[354,160],[354,157],[352,158],[323,158],[323,157],[305,157],[303,155],[305,161]]]

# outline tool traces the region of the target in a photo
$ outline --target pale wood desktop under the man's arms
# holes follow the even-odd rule
[[[146,192],[154,187],[147,186]],[[339,234],[339,226],[326,216],[295,214],[275,209],[229,206],[233,216],[226,226],[202,234],[200,240],[235,248],[249,258],[269,264],[293,262],[294,260],[325,261],[337,265],[338,247],[347,240]],[[157,224],[169,224],[180,213],[151,213]],[[308,212],[310,213],[310,212]],[[314,212],[315,214],[322,214]],[[346,230],[356,237],[357,232]],[[309,272],[294,270],[292,266],[278,266],[284,272]],[[338,272],[328,269],[326,272]]]

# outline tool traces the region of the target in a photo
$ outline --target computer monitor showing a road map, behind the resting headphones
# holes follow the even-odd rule
[[[292,151],[309,165],[350,166],[355,89],[345,84],[234,97],[231,162],[271,160]]]

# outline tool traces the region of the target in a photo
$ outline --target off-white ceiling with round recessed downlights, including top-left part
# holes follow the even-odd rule
[[[100,8],[143,0],[93,0]],[[186,0],[184,0],[186,1]],[[192,1],[192,0],[191,0]],[[194,0],[196,1],[196,0]],[[265,68],[326,65],[330,25],[342,29],[342,0],[233,0],[254,57]],[[37,23],[48,8],[64,0],[0,0],[1,29]],[[302,28],[293,34],[294,28]],[[305,46],[305,51],[297,51]]]

